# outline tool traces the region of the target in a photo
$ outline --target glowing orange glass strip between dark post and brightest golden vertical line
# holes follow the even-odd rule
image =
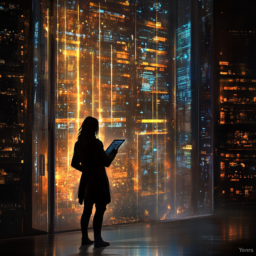
[[[76,202],[76,194],[81,173],[71,166],[73,148],[79,124],[80,51],[81,21],[78,1],[58,1],[56,56],[55,56],[55,230],[79,228],[78,218],[82,207]],[[84,68],[81,67],[81,72]],[[80,102],[81,101],[81,102]],[[72,218],[71,218],[72,216]]]

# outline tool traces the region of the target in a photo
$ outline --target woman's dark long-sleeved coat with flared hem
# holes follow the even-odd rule
[[[115,156],[114,152],[107,156],[103,143],[95,136],[76,141],[71,166],[82,172],[77,192],[79,204],[82,205],[83,201],[110,203],[110,187],[105,166],[109,167]]]

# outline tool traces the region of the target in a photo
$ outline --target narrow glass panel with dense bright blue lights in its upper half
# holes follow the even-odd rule
[[[176,102],[175,102],[175,211],[191,214],[191,2],[178,1],[176,28]]]

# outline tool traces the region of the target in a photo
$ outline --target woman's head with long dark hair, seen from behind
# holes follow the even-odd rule
[[[87,116],[78,130],[77,140],[88,140],[99,134],[99,122],[92,116]]]

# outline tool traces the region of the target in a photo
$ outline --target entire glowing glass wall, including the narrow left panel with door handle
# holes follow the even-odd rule
[[[126,139],[104,224],[211,213],[212,2],[33,0],[31,20],[32,227],[80,228],[86,116]]]

